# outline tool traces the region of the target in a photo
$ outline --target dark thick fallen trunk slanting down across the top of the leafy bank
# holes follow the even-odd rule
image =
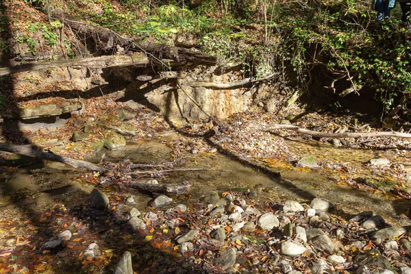
[[[134,38],[123,37],[116,32],[112,32],[110,29],[104,27],[92,26],[87,23],[76,21],[69,14],[62,10],[56,9],[51,14],[54,18],[59,19],[65,25],[71,27],[77,34],[82,36],[91,37],[98,44],[104,44],[104,49],[111,49],[116,45],[125,47],[127,49],[134,49],[136,51],[143,51],[144,53],[151,55],[158,60],[171,59],[175,62],[182,64],[195,63],[195,64],[207,64],[214,65],[217,63],[217,58],[198,51],[192,51],[190,49],[184,49],[182,47],[170,47],[164,44],[156,43],[138,43]]]

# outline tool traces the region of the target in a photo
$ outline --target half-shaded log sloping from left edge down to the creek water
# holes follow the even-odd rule
[[[11,153],[17,153],[29,157],[38,158],[41,160],[49,160],[53,162],[61,162],[63,164],[68,164],[69,166],[73,166],[75,169],[83,168],[88,169],[90,171],[107,171],[108,169],[103,166],[97,166],[90,162],[86,162],[83,160],[72,159],[68,157],[64,157],[61,155],[57,155],[50,152],[42,152],[37,150],[38,147],[34,147],[32,145],[9,145],[5,143],[0,143],[0,151],[8,151]]]

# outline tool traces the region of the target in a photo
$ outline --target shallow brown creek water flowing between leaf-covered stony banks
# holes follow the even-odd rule
[[[125,149],[120,151],[105,151],[105,160],[121,161],[128,158],[135,163],[167,162],[171,160],[172,149],[166,142],[175,138],[178,136],[174,134],[128,144]],[[307,153],[315,151],[317,155],[324,156],[334,153],[335,155],[331,155],[331,157],[338,155],[339,160],[343,162],[343,158],[347,158],[345,162],[350,159],[357,159],[361,162],[375,156],[373,151],[360,151],[357,155],[354,153],[355,151],[349,149],[342,151],[341,149],[326,148],[321,151],[319,147],[312,147],[310,144],[299,145],[307,146]],[[238,159],[219,153],[187,153],[184,155],[184,159],[186,163],[179,168],[209,168],[210,170],[174,172],[169,176],[157,178],[160,183],[191,182],[190,197],[188,199],[181,197],[183,203],[201,202],[201,197],[212,191],[221,193],[229,190],[253,189],[258,194],[255,203],[264,203],[269,200],[279,202],[296,200],[309,204],[312,199],[319,197],[334,203],[336,206],[334,214],[349,217],[365,210],[373,210],[392,225],[411,224],[410,219],[399,218],[400,214],[408,215],[408,210],[411,207],[409,200],[399,199],[395,195],[387,193],[339,185],[327,179],[318,170],[282,168],[281,164],[278,166],[268,165],[264,159]],[[278,161],[280,162],[280,160]],[[273,162],[276,160],[271,159],[271,163]],[[327,172],[334,171],[329,169]],[[28,169],[17,169],[12,174],[3,175],[2,181],[7,182],[7,184],[1,186],[3,197],[0,198],[0,211],[13,206],[10,197],[18,190],[34,192],[28,197],[37,205],[52,205],[76,199],[86,200],[86,195],[92,190],[92,186],[70,179],[73,175],[78,174],[78,171],[67,169],[62,164],[51,163],[34,173]],[[151,196],[134,190],[130,190],[126,195],[135,195],[138,202],[137,207],[144,211],[152,199]]]

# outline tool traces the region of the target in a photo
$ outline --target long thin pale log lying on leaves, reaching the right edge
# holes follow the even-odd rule
[[[366,137],[397,137],[397,138],[411,138],[411,134],[403,132],[343,132],[343,133],[327,133],[314,132],[310,129],[303,129],[295,125],[280,125],[276,124],[272,127],[267,127],[264,132],[271,132],[275,129],[288,129],[302,134],[308,134],[316,137],[325,138],[366,138]]]

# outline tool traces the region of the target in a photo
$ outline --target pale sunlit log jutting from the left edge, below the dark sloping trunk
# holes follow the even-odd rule
[[[146,66],[150,64],[150,58],[143,53],[126,55],[104,55],[92,58],[77,58],[72,60],[61,60],[55,62],[36,62],[20,64],[0,69],[0,76],[23,71],[38,71],[40,69],[62,68],[66,66],[87,66],[89,68],[105,69],[112,66]]]

